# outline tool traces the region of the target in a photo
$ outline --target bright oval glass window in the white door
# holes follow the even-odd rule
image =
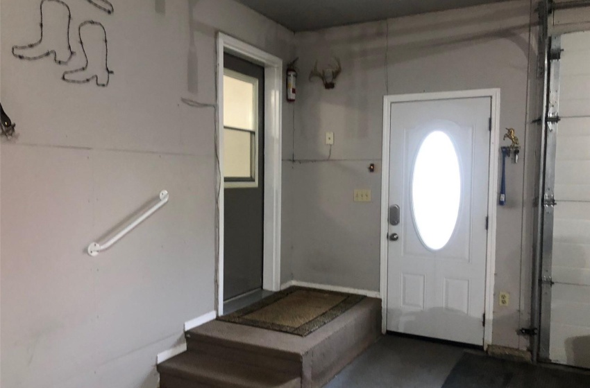
[[[431,132],[422,142],[412,173],[412,213],[422,243],[444,248],[457,226],[461,205],[461,169],[450,137]]]

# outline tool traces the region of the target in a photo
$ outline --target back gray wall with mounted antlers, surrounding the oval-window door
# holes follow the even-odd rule
[[[508,1],[296,34],[301,82],[290,188],[285,188],[292,191],[295,210],[292,256],[290,263],[283,260],[290,273],[284,280],[379,290],[385,94],[500,88],[500,128],[514,127],[525,146],[530,69],[536,71],[531,13],[530,1]],[[325,90],[307,74],[315,60],[326,67],[332,56],[342,60],[344,70],[335,89]],[[324,143],[326,132],[335,133],[331,150]],[[494,344],[525,347],[528,342],[517,330],[523,325],[521,308],[530,305],[521,299],[530,289],[530,277],[521,279],[521,270],[530,272],[534,179],[525,180],[524,169],[535,157],[523,152],[521,163],[507,166],[509,199],[498,209],[496,292],[509,292],[512,299],[510,306],[495,308]],[[370,174],[373,162],[378,169]],[[530,177],[537,174],[529,171]],[[373,202],[353,202],[355,188],[371,189]]]

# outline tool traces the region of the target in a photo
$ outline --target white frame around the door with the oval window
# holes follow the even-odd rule
[[[489,142],[489,191],[485,286],[485,327],[484,349],[491,344],[494,315],[494,273],[496,268],[496,210],[498,208],[498,138],[500,134],[500,89],[478,89],[466,91],[444,91],[440,93],[401,94],[385,96],[383,99],[383,149],[381,175],[381,279],[382,332],[387,330],[387,247],[385,238],[389,231],[387,206],[389,206],[389,143],[391,133],[391,103],[412,101],[450,100],[453,98],[491,98],[491,136]]]

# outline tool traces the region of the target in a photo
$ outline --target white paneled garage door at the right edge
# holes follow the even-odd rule
[[[549,352],[590,368],[590,32],[561,39]]]

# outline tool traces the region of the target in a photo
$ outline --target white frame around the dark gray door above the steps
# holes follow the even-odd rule
[[[224,53],[264,67],[264,258],[262,288],[280,290],[283,60],[224,33],[217,35],[217,314],[224,312]],[[216,193],[217,195],[217,193]]]

